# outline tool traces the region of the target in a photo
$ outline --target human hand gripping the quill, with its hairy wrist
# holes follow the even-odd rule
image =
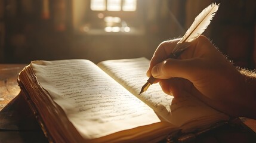
[[[205,36],[195,39],[178,59],[170,59],[177,42],[162,42],[147,70],[147,76],[157,78],[166,94],[179,97],[189,92],[231,116],[251,117],[255,113],[255,97],[252,102],[245,95],[245,76]]]

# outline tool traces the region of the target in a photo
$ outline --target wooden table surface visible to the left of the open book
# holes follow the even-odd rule
[[[0,142],[48,142],[17,83],[26,64],[0,64]]]

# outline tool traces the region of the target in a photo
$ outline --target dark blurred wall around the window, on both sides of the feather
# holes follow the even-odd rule
[[[77,32],[78,27],[73,25],[73,1],[49,1],[46,13],[43,1],[0,0],[4,5],[0,7],[0,63],[67,58],[98,63],[116,58],[151,58],[159,43],[183,35],[181,29],[187,29],[188,16],[195,18],[187,13],[194,11],[196,16],[201,11],[191,4],[205,2],[138,0],[143,33],[89,35]],[[237,66],[254,69],[256,1],[208,2],[220,3],[220,9],[205,35]]]

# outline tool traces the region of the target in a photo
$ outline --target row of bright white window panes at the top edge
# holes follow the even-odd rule
[[[137,0],[91,0],[92,11],[136,11]]]

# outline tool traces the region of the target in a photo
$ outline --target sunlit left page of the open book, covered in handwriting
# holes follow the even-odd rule
[[[39,84],[84,138],[160,122],[148,107],[88,60],[34,61]]]

